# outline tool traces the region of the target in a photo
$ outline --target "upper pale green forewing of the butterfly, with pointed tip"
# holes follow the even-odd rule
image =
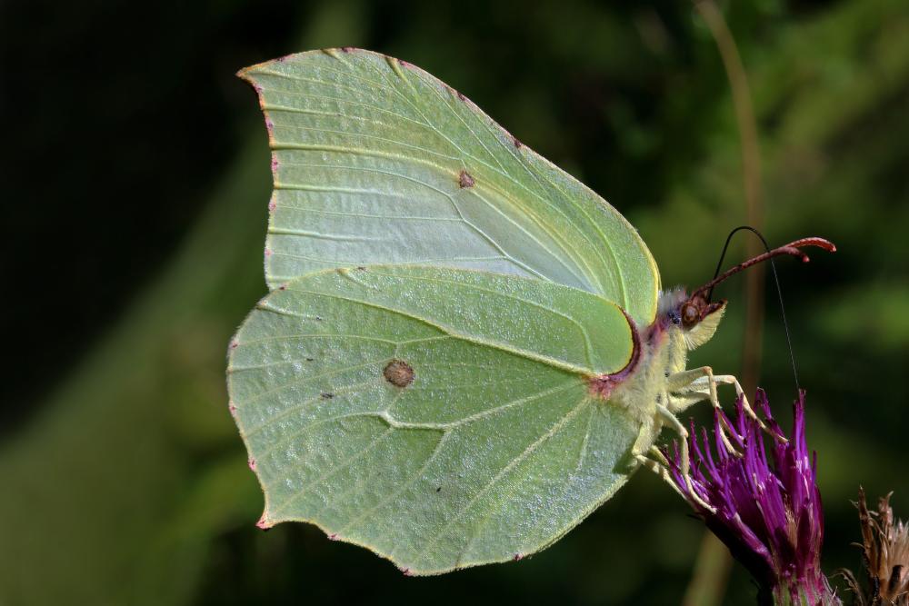
[[[327,268],[439,264],[564,283],[653,320],[659,274],[634,227],[432,75],[359,49],[240,75],[273,150],[271,288]]]

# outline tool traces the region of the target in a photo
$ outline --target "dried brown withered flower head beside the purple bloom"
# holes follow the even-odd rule
[[[864,490],[858,489],[858,518],[866,590],[850,571],[841,571],[858,606],[909,606],[909,524],[896,520],[890,494],[869,512]]]

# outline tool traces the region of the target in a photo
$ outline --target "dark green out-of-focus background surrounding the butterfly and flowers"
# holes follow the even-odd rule
[[[750,79],[768,239],[839,247],[777,266],[824,569],[855,567],[860,483],[909,516],[909,4],[720,7]],[[685,2],[3,3],[0,604],[682,600],[702,525],[645,473],[532,558],[429,579],[314,527],[255,528],[225,348],[265,293],[270,176],[234,73],[340,45],[420,65],[591,185],[666,285],[703,283],[744,222],[729,84]],[[739,371],[743,285],[724,285],[727,319],[694,363]],[[787,418],[774,297],[760,384]],[[723,603],[754,603],[738,567]]]

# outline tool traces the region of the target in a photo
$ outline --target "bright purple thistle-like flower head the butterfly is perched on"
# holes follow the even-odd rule
[[[715,410],[712,438],[692,422],[691,486],[699,499],[685,482],[677,443],[673,452],[664,452],[675,486],[754,576],[761,601],[839,604],[820,566],[824,512],[815,483],[816,454],[805,445],[804,392],[794,402],[788,439],[762,390],[755,404],[764,427],[747,413],[743,397],[735,403],[734,420]]]

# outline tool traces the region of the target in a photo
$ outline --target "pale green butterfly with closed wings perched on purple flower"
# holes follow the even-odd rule
[[[464,95],[350,48],[239,75],[275,177],[271,293],[227,369],[260,527],[312,522],[411,574],[520,559],[665,472],[674,413],[741,393],[684,370],[724,302],[661,293],[634,227]]]

